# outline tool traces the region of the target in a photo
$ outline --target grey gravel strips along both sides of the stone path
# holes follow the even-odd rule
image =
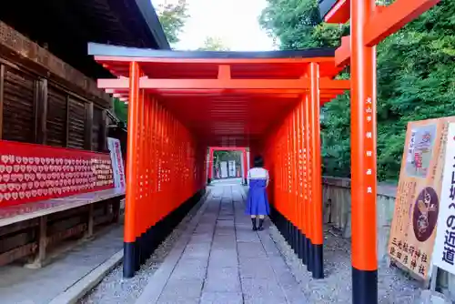
[[[107,275],[96,289],[93,289],[78,303],[134,303],[146,287],[148,279],[167,257],[177,239],[185,231],[187,222],[196,215],[200,206],[201,203],[190,211],[133,279],[123,279],[122,266],[120,265]],[[352,302],[350,242],[348,239],[334,236],[329,232],[329,228],[326,228],[324,240],[325,279],[315,280],[311,278],[306,266],[303,266],[296,258],[293,250],[279,234],[278,229],[272,225],[269,232],[285,258],[289,269],[305,292],[309,303],[344,304]],[[379,268],[379,303],[415,303],[420,298],[420,286],[421,284],[418,281],[410,279],[399,269]]]

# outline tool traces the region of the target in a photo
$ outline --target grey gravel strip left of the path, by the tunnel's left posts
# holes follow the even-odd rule
[[[120,265],[112,270],[95,289],[90,291],[85,298],[78,301],[79,304],[127,304],[135,303],[136,299],[147,286],[148,279],[155,273],[161,263],[167,257],[174,243],[187,228],[188,221],[193,218],[197,210],[202,206],[203,200],[191,209],[174,231],[161,243],[155,253],[141,269],[136,272],[132,279],[123,278],[123,266]]]

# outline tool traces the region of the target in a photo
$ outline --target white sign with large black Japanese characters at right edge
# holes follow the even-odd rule
[[[433,263],[455,274],[455,124],[449,124]]]

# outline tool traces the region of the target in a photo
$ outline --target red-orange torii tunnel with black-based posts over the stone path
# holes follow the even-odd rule
[[[129,106],[124,276],[134,276],[169,220],[195,198],[188,194],[204,191],[207,148],[229,138],[249,147],[250,157],[265,156],[275,221],[313,278],[323,278],[319,110],[349,89],[349,80],[333,79],[341,70],[333,49],[177,52],[90,44],[89,54],[117,76],[98,86]]]

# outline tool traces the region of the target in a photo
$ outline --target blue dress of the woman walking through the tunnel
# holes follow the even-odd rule
[[[245,211],[249,216],[268,216],[270,214],[266,186],[266,179],[252,178],[249,180],[247,209]]]

